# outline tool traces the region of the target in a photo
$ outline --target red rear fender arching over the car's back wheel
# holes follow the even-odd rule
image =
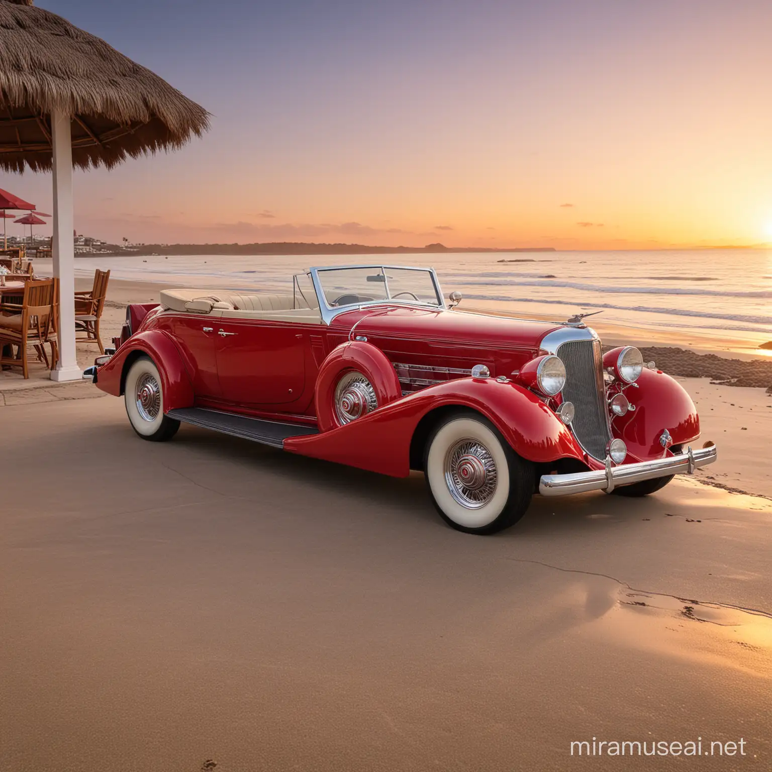
[[[192,407],[195,397],[190,376],[174,341],[162,330],[145,330],[130,337],[110,361],[97,370],[97,387],[120,397],[131,363],[142,354],[151,357],[161,373],[164,413]]]

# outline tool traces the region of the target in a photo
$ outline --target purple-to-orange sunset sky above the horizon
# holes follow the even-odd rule
[[[211,132],[176,154],[77,173],[79,233],[559,249],[772,242],[770,2],[36,5],[213,116]],[[50,211],[48,175],[3,173],[0,188]]]

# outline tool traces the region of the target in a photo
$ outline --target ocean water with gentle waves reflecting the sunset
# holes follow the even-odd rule
[[[113,279],[289,292],[293,273],[312,265],[380,262],[434,267],[446,295],[463,293],[462,306],[556,319],[602,311],[594,321],[730,337],[751,348],[772,340],[772,249],[93,256],[77,258],[76,272],[87,276],[99,267],[110,269]]]

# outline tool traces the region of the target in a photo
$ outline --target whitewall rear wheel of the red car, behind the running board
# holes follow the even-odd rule
[[[150,357],[143,355],[131,364],[124,401],[131,427],[141,438],[164,442],[177,434],[180,422],[164,415],[163,381]]]

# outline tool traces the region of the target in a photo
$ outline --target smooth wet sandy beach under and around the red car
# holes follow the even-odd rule
[[[112,282],[104,337],[159,289]],[[141,442],[122,401],[32,375],[0,377],[3,772],[618,769],[571,742],[698,736],[747,755],[695,768],[769,766],[764,388],[675,374],[719,462],[647,499],[537,496],[482,538],[420,474]]]

